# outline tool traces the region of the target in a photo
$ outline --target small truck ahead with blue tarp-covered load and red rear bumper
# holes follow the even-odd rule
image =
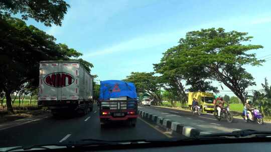
[[[99,102],[101,126],[117,120],[125,120],[131,126],[137,123],[137,90],[133,83],[121,80],[100,81]]]

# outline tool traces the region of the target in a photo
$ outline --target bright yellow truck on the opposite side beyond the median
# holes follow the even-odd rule
[[[188,105],[192,106],[193,98],[198,99],[202,112],[214,111],[214,94],[210,92],[188,92]]]

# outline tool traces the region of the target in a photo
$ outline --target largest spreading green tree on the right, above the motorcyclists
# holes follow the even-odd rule
[[[261,65],[264,61],[258,60],[255,53],[249,51],[262,48],[262,45],[244,43],[251,38],[246,32],[225,32],[223,28],[190,31],[185,38],[180,39],[179,45],[171,53],[171,62],[178,63],[182,71],[187,73],[198,73],[191,69],[200,67],[202,74],[199,76],[222,82],[244,104],[247,96],[245,89],[255,85],[255,82],[243,65]]]

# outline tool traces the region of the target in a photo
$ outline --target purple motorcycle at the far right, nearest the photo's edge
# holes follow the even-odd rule
[[[256,108],[251,108],[250,111],[251,111],[252,116],[250,117],[249,112],[246,112],[246,117],[247,117],[246,121],[257,122],[258,124],[263,124],[263,116],[260,113],[260,111]],[[245,120],[244,111],[243,111],[242,117]]]

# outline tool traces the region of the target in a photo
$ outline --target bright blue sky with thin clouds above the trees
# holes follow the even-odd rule
[[[177,45],[187,31],[223,27],[254,36],[261,44],[258,57],[271,54],[270,0],[68,0],[71,7],[62,26],[46,27],[28,20],[57,42],[82,52],[92,62],[99,80],[123,79],[132,71],[153,71],[162,53]],[[271,57],[266,56],[266,57]],[[263,57],[263,58],[266,58]],[[268,58],[267,58],[268,59]],[[270,58],[271,59],[271,58]],[[270,61],[246,66],[260,89],[264,77],[271,83]],[[217,82],[213,82],[218,86]],[[224,90],[229,90],[224,86]],[[221,94],[233,95],[231,92]]]

